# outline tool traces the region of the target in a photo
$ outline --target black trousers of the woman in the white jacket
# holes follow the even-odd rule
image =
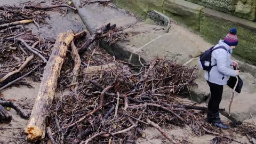
[[[220,107],[220,101],[222,99],[223,85],[218,85],[207,81],[210,86],[211,98],[208,102],[208,109],[212,113],[217,113]]]

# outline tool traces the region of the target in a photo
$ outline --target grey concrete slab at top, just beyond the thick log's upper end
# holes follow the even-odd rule
[[[73,3],[90,33],[109,22],[116,23],[118,27],[134,25],[137,22],[129,13],[110,6],[93,3],[80,8],[80,0],[73,0]]]

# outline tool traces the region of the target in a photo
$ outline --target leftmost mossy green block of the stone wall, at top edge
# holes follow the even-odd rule
[[[164,0],[114,0],[115,4],[122,9],[131,11],[139,17],[146,19],[149,11],[163,11]]]

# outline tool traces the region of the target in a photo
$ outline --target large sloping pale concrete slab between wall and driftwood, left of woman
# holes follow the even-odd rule
[[[135,50],[133,53],[140,54],[145,59],[156,56],[177,56],[177,61],[183,64],[191,58],[198,57],[209,47],[211,44],[205,43],[198,35],[191,33],[182,26],[172,25],[169,33],[159,36],[150,44]]]

